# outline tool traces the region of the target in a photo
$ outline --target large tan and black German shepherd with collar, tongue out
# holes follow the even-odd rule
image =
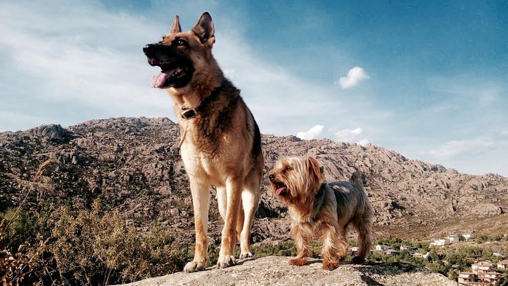
[[[224,77],[213,58],[215,26],[208,12],[189,32],[182,32],[176,15],[169,34],[145,45],[148,63],[161,69],[152,87],[173,99],[180,127],[180,153],[191,185],[195,223],[195,254],[185,272],[205,269],[208,252],[208,212],[211,185],[217,190],[224,220],[217,262],[219,268],[250,257],[251,225],[260,201],[264,167],[261,135],[240,90]]]

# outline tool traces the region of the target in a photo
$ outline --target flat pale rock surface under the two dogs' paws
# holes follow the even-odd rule
[[[124,286],[140,285],[457,285],[441,274],[405,263],[343,264],[334,271],[321,269],[313,259],[303,267],[288,264],[288,257],[267,256],[238,261],[234,267],[187,274],[178,272]]]

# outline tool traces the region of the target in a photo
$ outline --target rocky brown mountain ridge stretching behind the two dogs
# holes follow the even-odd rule
[[[169,119],[141,117],[0,133],[0,211],[23,201],[29,207],[49,201],[81,208],[100,198],[106,209],[120,210],[141,230],[161,219],[191,240],[191,194],[178,132]],[[460,174],[372,144],[264,135],[262,148],[265,170],[283,156],[315,156],[327,181],[348,180],[359,168],[376,212],[377,237],[508,232],[508,178],[503,176]],[[264,182],[254,242],[288,232],[286,208]],[[218,240],[222,223],[214,200],[210,218],[210,235]]]

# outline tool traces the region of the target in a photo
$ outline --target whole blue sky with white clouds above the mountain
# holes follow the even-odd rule
[[[263,133],[508,176],[508,1],[0,1],[0,131],[168,116],[142,45],[174,14]]]

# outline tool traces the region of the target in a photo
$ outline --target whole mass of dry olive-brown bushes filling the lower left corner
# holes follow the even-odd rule
[[[185,254],[160,223],[140,234],[100,201],[92,210],[0,214],[1,285],[127,283],[180,271]]]

